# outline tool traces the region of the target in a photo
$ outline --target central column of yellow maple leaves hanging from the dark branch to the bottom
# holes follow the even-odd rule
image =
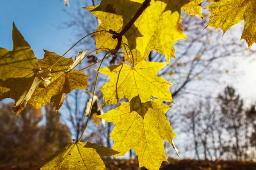
[[[144,0],[102,0],[98,6],[86,9],[102,21],[96,31],[113,30],[118,33],[143,2]],[[125,61],[129,61],[131,66],[120,63],[99,70],[111,78],[100,88],[103,106],[116,104],[124,97],[130,101],[98,116],[116,125],[111,134],[113,149],[120,152],[116,156],[134,149],[140,167],[145,166],[150,170],[159,169],[162,161],[166,161],[163,140],[169,140],[174,146],[172,138],[175,133],[164,116],[170,106],[164,105],[160,100],[172,102],[169,86],[173,84],[157,76],[157,72],[166,63],[145,60],[152,50],[165,54],[167,62],[169,57],[175,57],[174,43],[180,38],[186,39],[181,28],[180,10],[202,17],[202,2],[203,0],[151,0],[143,14],[122,37]],[[96,39],[96,47],[115,48],[117,40],[112,36],[108,32],[95,33],[93,37]],[[177,66],[181,65],[182,62],[177,63]],[[172,65],[172,68],[175,67],[176,65]],[[173,74],[170,72],[171,76]],[[152,96],[160,100],[151,101]]]

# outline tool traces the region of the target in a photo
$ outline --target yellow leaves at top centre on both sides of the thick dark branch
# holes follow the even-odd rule
[[[99,6],[86,9],[102,21],[96,31],[112,29],[119,32],[143,2],[144,0],[102,0]],[[140,52],[142,57],[138,55],[140,58],[134,59],[137,63],[146,59],[152,50],[165,54],[168,62],[170,57],[175,57],[173,43],[181,38],[186,39],[181,28],[180,9],[189,2],[189,0],[151,0],[150,6],[145,9],[123,38],[123,42],[128,44],[132,53]],[[112,36],[104,32],[94,34],[97,48],[114,48],[117,40],[113,40]],[[123,51],[125,54],[124,47]],[[128,61],[127,57],[126,61]],[[134,65],[136,65],[135,62]]]

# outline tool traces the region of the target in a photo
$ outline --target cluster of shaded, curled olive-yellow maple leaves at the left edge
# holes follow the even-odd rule
[[[68,93],[77,88],[87,89],[87,75],[76,70],[67,72],[72,58],[62,58],[47,68],[61,56],[45,50],[44,58],[38,60],[14,24],[12,40],[12,51],[0,48],[0,101],[14,99],[15,114],[26,105],[41,108],[49,102],[58,111]]]

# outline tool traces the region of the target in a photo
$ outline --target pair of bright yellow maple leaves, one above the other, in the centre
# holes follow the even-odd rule
[[[171,106],[160,101],[173,102],[169,91],[173,84],[157,76],[166,64],[142,60],[135,67],[120,63],[99,69],[111,78],[100,88],[104,106],[116,104],[124,97],[130,101],[98,116],[116,125],[111,133],[113,149],[120,152],[116,156],[134,149],[140,167],[150,170],[159,169],[162,161],[167,161],[163,140],[168,140],[177,151],[172,142],[176,135],[165,116]],[[151,101],[152,96],[158,99]]]

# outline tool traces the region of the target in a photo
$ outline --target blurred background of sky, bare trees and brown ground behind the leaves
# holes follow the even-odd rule
[[[0,0],[0,47],[12,49],[14,21],[38,59],[43,58],[43,49],[62,55],[81,37],[95,31],[100,21],[82,7],[99,3],[100,0],[70,0],[70,7],[67,7],[64,0]],[[208,2],[202,4],[203,7],[207,5]],[[175,43],[177,59],[171,59],[171,64],[158,73],[175,84],[170,87],[175,104],[166,116],[178,136],[174,143],[180,159],[169,142],[164,142],[171,164],[164,162],[161,168],[255,169],[256,45],[249,53],[247,43],[240,41],[243,22],[223,36],[221,29],[205,28],[209,18],[207,10],[203,10],[203,18],[183,15],[182,27],[188,40]],[[76,56],[89,48],[95,49],[93,38],[83,40],[65,57]],[[99,67],[94,63],[103,55],[104,52],[93,53],[77,67],[78,70],[86,68],[82,71],[90,76],[88,91],[93,91],[95,84],[93,68]],[[103,67],[121,61],[122,51],[106,59]],[[166,59],[152,51],[148,61],[166,62]],[[98,80],[96,95],[100,105],[102,93],[99,88],[108,80],[104,75]],[[28,106],[14,116],[14,101],[1,101],[0,169],[29,169],[72,139],[79,139],[87,120],[85,112],[90,98],[84,90],[73,91],[67,95],[58,116],[50,103],[41,109]],[[106,113],[117,106],[119,104],[109,105],[103,111]],[[109,136],[113,124],[102,124],[96,114],[89,121],[82,141],[112,148],[113,140]],[[133,150],[116,160],[104,160],[111,170],[138,169]]]

